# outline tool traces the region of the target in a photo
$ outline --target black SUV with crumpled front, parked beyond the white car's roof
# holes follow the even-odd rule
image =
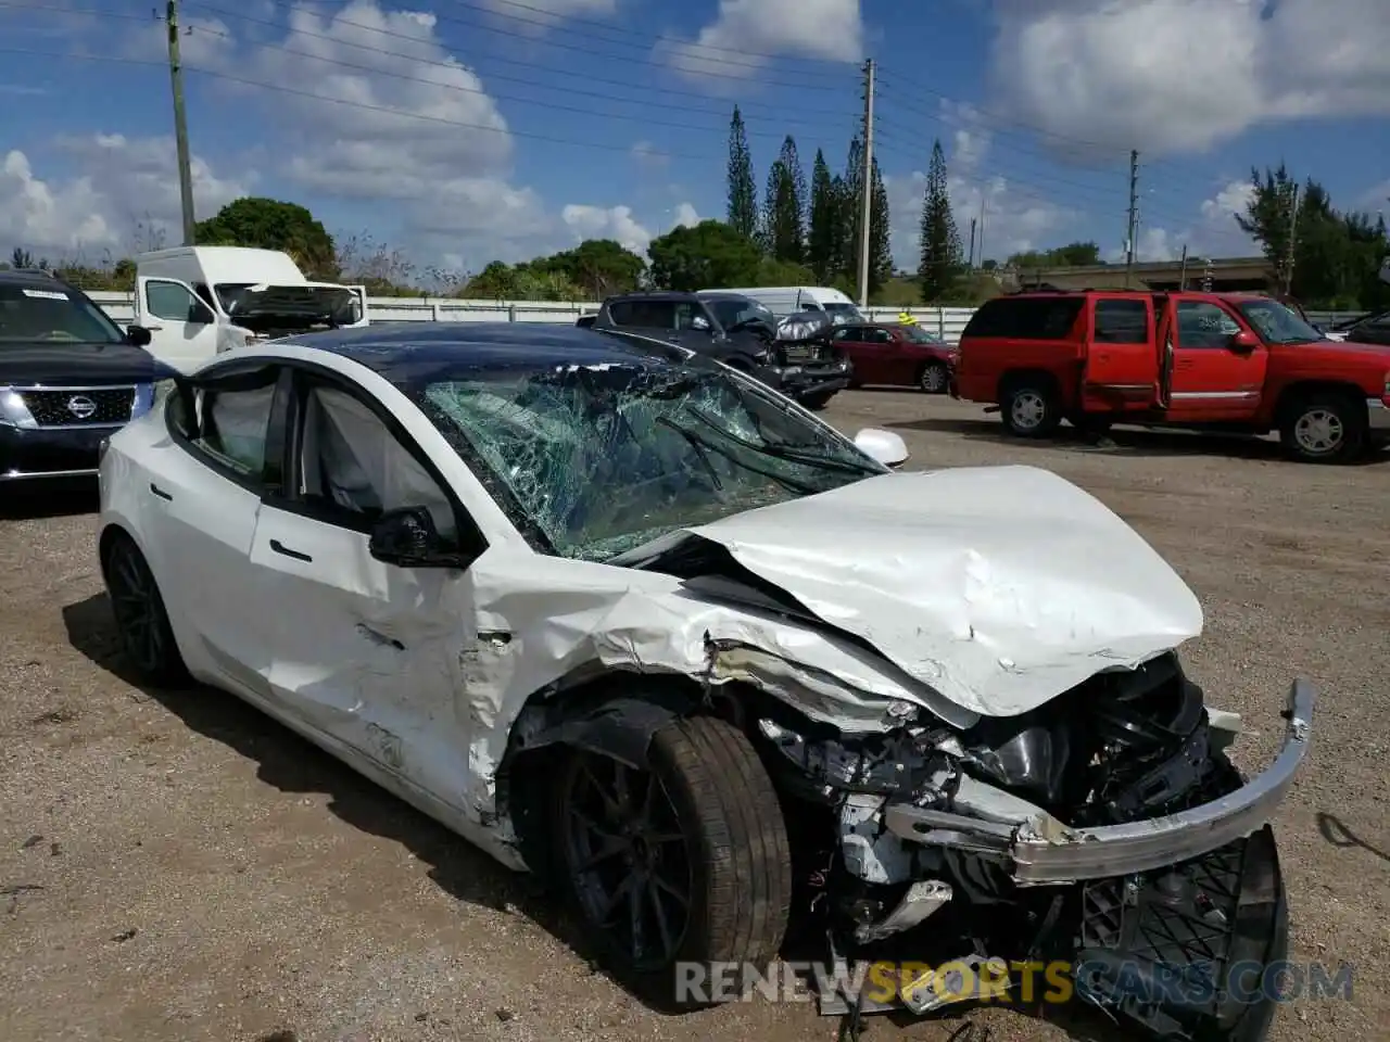
[[[777,343],[777,318],[738,293],[624,293],[580,325],[680,345],[741,370],[808,408],[849,385],[849,361],[830,342]]]

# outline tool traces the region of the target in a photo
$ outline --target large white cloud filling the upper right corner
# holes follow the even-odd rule
[[[1017,119],[1111,150],[1390,114],[1386,0],[995,0],[995,15],[992,72]]]

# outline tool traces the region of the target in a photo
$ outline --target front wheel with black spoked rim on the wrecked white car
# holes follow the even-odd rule
[[[627,785],[626,816],[614,806],[624,792],[619,778]],[[645,816],[631,813],[635,796],[651,797]],[[787,825],[752,743],[723,720],[691,717],[662,728],[644,771],[571,750],[553,789],[552,836],[585,936],[613,975],[653,1004],[713,1004],[708,995],[682,993],[677,963],[766,967],[777,956],[792,891]],[[614,899],[624,878],[639,881],[641,896]],[[628,925],[634,900],[637,942]]]

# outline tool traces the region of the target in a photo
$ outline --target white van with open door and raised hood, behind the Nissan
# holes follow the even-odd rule
[[[279,250],[177,246],[135,258],[135,324],[183,372],[250,340],[367,321],[364,286],[310,282]]]

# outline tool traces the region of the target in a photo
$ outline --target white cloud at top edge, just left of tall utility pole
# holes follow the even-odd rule
[[[859,61],[865,26],[859,0],[719,0],[714,21],[694,40],[666,38],[656,53],[691,79],[751,79],[764,56]]]

